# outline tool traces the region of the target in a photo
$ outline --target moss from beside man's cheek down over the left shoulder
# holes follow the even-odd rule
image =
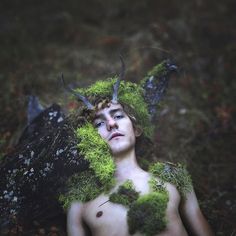
[[[72,201],[87,202],[108,192],[115,184],[115,164],[108,144],[90,123],[76,130],[80,154],[90,162],[89,170],[73,175],[59,201],[67,208]]]

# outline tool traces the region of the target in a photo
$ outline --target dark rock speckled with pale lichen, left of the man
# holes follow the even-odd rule
[[[57,198],[65,181],[88,167],[77,152],[77,142],[57,104],[25,128],[14,151],[0,163],[1,235],[14,225],[62,214]]]

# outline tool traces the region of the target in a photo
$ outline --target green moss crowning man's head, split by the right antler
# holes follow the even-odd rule
[[[88,88],[77,89],[80,94],[86,97],[102,97],[111,99],[113,93],[113,85],[117,78],[110,78],[103,81],[97,81]],[[143,98],[143,88],[135,83],[121,81],[119,86],[118,99],[121,104],[127,104],[138,121],[138,125],[143,128],[143,132],[147,137],[153,135],[153,125],[150,122],[147,104]]]

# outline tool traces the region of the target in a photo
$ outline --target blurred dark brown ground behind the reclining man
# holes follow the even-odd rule
[[[27,95],[70,105],[61,72],[82,87],[118,73],[121,53],[127,80],[138,81],[170,58],[180,73],[157,121],[156,155],[186,163],[216,235],[236,235],[235,9],[234,0],[2,0],[1,158],[26,125]],[[48,225],[45,235],[64,235]]]

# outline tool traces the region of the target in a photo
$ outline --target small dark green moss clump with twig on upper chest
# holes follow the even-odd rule
[[[110,195],[109,200],[129,207],[132,202],[138,199],[138,197],[139,193],[134,189],[133,182],[127,180],[124,184],[119,186],[117,192]]]

